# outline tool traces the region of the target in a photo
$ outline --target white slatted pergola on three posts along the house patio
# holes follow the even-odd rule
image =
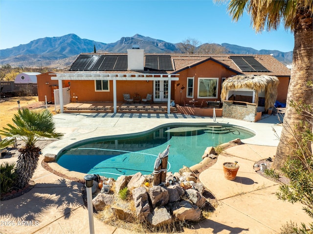
[[[62,81],[95,81],[95,80],[108,80],[113,82],[113,111],[117,113],[116,101],[116,81],[168,81],[168,100],[167,100],[167,113],[170,113],[171,108],[171,81],[178,81],[179,74],[151,74],[151,73],[58,73],[51,74],[51,80],[57,80],[59,84],[59,98],[60,98],[60,111],[64,112],[63,102],[63,86]]]

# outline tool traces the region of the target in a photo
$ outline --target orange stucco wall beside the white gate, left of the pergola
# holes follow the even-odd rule
[[[46,72],[37,75],[37,88],[38,88],[38,101],[45,102],[45,96],[47,96],[47,102],[54,103],[53,89],[58,87],[58,81],[51,80],[53,72]],[[48,84],[46,84],[48,83]],[[63,81],[63,87],[68,87],[68,81]]]

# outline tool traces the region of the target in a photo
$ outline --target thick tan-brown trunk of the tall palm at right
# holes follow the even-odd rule
[[[273,167],[280,170],[288,157],[292,155],[292,149],[297,147],[295,134],[303,129],[299,127],[301,121],[309,124],[312,131],[312,118],[296,113],[290,106],[291,100],[294,103],[303,102],[307,105],[313,104],[313,21],[312,16],[304,10],[296,15],[296,28],[294,31],[294,49],[292,58],[291,79],[288,88],[286,113],[283,122],[283,130],[280,142],[277,147]],[[297,127],[298,126],[298,127]],[[311,142],[308,142],[308,149],[312,155]],[[309,156],[309,155],[308,155]]]

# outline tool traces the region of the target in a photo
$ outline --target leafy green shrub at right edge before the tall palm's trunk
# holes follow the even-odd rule
[[[295,130],[291,134],[296,144],[288,145],[286,143],[291,148],[292,153],[281,170],[290,179],[290,183],[281,185],[276,195],[278,199],[284,201],[300,202],[304,205],[303,210],[313,218],[312,105],[291,102],[291,107],[299,115],[304,115],[308,121],[300,121],[299,124],[294,126]],[[312,227],[313,223],[309,225]],[[313,231],[313,228],[311,230]]]

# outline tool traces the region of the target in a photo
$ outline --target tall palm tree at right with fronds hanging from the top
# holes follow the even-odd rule
[[[292,155],[292,149],[297,145],[294,133],[304,130],[300,126],[306,126],[311,132],[313,128],[312,117],[297,113],[291,105],[291,102],[301,105],[312,105],[313,103],[312,8],[312,0],[230,0],[228,4],[228,11],[232,19],[238,21],[246,11],[251,16],[251,24],[256,32],[262,32],[265,26],[268,31],[276,30],[283,23],[286,30],[294,33],[286,113],[273,163],[273,167],[278,170]],[[309,157],[312,155],[311,142],[307,144],[309,154],[306,156]]]

